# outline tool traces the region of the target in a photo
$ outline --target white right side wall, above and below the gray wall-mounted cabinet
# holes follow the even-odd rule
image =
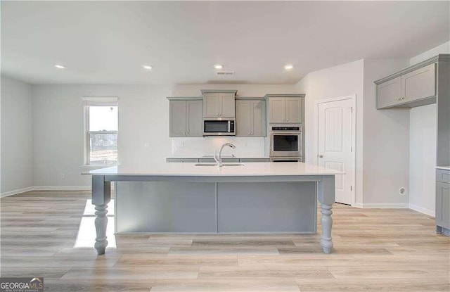
[[[450,53],[450,42],[420,53],[410,59],[410,65]],[[436,104],[412,108],[409,139],[409,208],[435,215],[436,165]]]

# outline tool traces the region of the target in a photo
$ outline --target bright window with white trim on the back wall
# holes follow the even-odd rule
[[[117,165],[117,99],[84,99],[86,165]]]

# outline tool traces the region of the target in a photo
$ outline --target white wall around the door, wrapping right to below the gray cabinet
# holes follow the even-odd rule
[[[400,196],[398,190],[399,187],[409,188],[409,113],[407,110],[376,110],[373,83],[408,65],[409,60],[365,59],[311,72],[297,83],[297,91],[307,94],[307,163],[316,163],[316,101],[356,95],[357,206],[408,205],[408,196]]]

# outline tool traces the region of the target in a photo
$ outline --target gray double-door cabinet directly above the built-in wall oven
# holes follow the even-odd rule
[[[303,97],[269,96],[269,122],[302,123],[304,113]]]

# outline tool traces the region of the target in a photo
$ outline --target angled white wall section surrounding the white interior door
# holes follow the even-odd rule
[[[356,203],[363,202],[364,61],[354,61],[309,73],[296,84],[305,98],[305,162],[316,164],[316,101],[356,95]]]

